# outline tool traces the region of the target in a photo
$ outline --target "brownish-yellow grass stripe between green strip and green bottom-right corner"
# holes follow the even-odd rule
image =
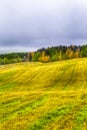
[[[47,129],[55,129],[56,127],[57,130],[64,130],[66,128],[67,130],[72,130],[75,126],[75,117],[77,116],[78,111],[81,111],[81,109],[84,108],[85,104],[86,103],[83,102],[76,102],[74,108],[69,113],[64,115],[60,120],[56,119],[51,124],[48,124]]]

